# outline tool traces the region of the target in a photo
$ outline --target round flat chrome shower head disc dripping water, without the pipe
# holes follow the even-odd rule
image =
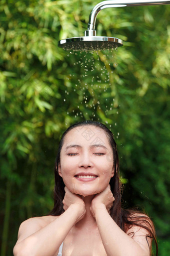
[[[118,38],[96,36],[72,37],[58,42],[58,46],[66,51],[101,51],[116,49],[122,45],[122,40]]]

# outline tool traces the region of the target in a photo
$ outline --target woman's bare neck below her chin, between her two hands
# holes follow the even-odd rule
[[[96,226],[95,218],[92,216],[91,211],[90,211],[91,201],[94,196],[95,195],[90,195],[90,196],[85,196],[83,198],[86,213],[85,213],[83,219],[81,219],[80,221],[78,221],[75,224],[75,227],[79,228],[79,227],[82,227],[82,225],[85,225],[85,226],[89,226],[91,228],[92,226]]]

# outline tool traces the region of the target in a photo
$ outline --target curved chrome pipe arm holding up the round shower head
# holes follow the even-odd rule
[[[97,4],[89,15],[88,27],[85,31],[85,36],[95,36],[95,21],[97,14],[106,8],[125,7],[125,6],[155,6],[155,5],[170,5],[170,1],[156,1],[156,0],[110,0],[103,1]]]

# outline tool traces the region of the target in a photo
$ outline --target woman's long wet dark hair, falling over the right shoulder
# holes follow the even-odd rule
[[[70,130],[74,128],[79,129],[80,131],[82,128],[81,126],[84,126],[84,125],[93,125],[102,129],[105,132],[108,138],[109,144],[113,151],[114,176],[110,179],[109,184],[110,184],[110,190],[114,196],[114,202],[113,202],[113,206],[110,208],[110,216],[125,233],[128,233],[128,229],[131,228],[133,225],[146,229],[148,233],[146,235],[146,241],[148,237],[154,240],[155,248],[156,248],[156,256],[157,256],[158,248],[157,248],[157,242],[155,238],[155,230],[150,218],[147,217],[145,214],[141,213],[140,211],[129,210],[129,209],[127,210],[127,209],[121,208],[122,186],[119,180],[119,161],[118,161],[116,143],[113,139],[113,134],[111,133],[111,131],[104,124],[100,122],[91,121],[91,120],[77,122],[69,126],[68,129],[63,133],[61,140],[59,142],[59,147],[58,147],[58,152],[57,152],[55,167],[54,167],[54,176],[55,176],[54,207],[49,213],[49,215],[58,216],[64,212],[62,200],[65,194],[65,191],[64,191],[65,185],[63,183],[62,178],[58,174],[58,165],[60,163],[60,152],[63,146],[64,137]],[[134,233],[130,233],[129,235],[133,236]],[[151,255],[151,250],[150,250],[150,255]]]

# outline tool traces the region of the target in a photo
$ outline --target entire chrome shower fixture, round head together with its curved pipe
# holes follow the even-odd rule
[[[108,0],[97,4],[89,15],[88,27],[84,37],[73,37],[60,40],[58,46],[64,50],[74,51],[100,51],[105,49],[115,49],[122,46],[122,40],[114,37],[97,37],[95,31],[95,20],[97,14],[105,8],[125,7],[125,6],[151,6],[169,5],[169,0]]]

